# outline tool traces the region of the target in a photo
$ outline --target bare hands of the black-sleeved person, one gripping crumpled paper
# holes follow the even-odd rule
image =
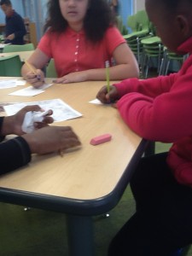
[[[53,123],[53,118],[49,115],[52,114],[52,110],[44,117],[43,122],[36,123],[36,131],[25,134],[21,130],[21,125],[28,111],[43,111],[38,105],[27,106],[22,108],[15,115],[5,117],[3,119],[2,136],[9,134],[15,134],[23,137],[28,143],[31,153],[47,154],[57,150],[65,150],[67,148],[73,148],[79,146],[81,143],[77,135],[73,132],[69,126],[49,126]],[[41,129],[40,129],[41,128]]]

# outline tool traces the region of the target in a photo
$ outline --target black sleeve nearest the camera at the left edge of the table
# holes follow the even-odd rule
[[[0,174],[14,171],[31,161],[31,151],[22,137],[15,137],[0,144]]]

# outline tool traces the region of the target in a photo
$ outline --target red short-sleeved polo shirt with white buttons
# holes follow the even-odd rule
[[[93,44],[85,38],[84,31],[46,32],[38,49],[55,60],[58,77],[67,73],[105,67],[111,61],[113,50],[125,39],[116,27],[109,27],[99,43]]]

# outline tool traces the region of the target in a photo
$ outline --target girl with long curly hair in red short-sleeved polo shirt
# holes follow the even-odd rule
[[[35,87],[44,83],[41,69],[50,58],[55,60],[56,83],[104,80],[106,61],[110,79],[138,77],[135,56],[114,26],[106,0],[49,0],[48,9],[47,32],[28,60],[37,73],[26,65],[21,70],[27,82]]]

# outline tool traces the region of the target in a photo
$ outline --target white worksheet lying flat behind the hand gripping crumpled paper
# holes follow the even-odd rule
[[[44,109],[44,111],[52,109],[53,110],[53,119],[55,122],[61,122],[68,119],[75,119],[82,116],[82,113],[79,113],[75,109],[67,105],[66,102],[61,101],[61,99],[53,99],[40,102],[23,102],[13,105],[3,106],[7,115],[12,115],[17,113],[21,108],[31,105],[38,105]]]

